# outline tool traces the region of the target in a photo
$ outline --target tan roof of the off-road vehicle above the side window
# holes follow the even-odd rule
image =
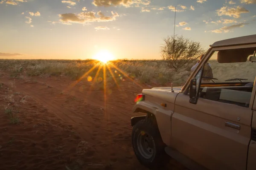
[[[243,44],[253,44],[253,43],[256,43],[256,34],[216,41],[212,45],[210,45],[210,47],[243,45]]]

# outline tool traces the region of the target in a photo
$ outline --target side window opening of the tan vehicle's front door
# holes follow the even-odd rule
[[[248,59],[254,51],[256,48],[215,51],[204,63],[198,97],[249,107],[256,63]]]

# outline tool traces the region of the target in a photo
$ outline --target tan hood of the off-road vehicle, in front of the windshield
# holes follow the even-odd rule
[[[180,93],[181,89],[182,87],[174,87],[174,92],[172,92],[171,87],[156,87],[151,89],[143,89],[142,93],[145,94],[146,98],[147,96],[151,96],[157,99],[174,103],[176,96]]]

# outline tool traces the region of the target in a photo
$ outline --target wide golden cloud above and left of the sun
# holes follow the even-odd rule
[[[111,11],[112,16],[107,17],[105,16],[102,11],[99,11],[97,13],[98,17],[96,16],[96,13],[93,11],[90,12],[81,12],[79,14],[73,14],[73,13],[66,13],[66,14],[59,14],[60,22],[63,24],[71,24],[71,23],[90,23],[90,22],[108,22],[116,20],[116,17],[119,17],[119,14],[114,13]]]

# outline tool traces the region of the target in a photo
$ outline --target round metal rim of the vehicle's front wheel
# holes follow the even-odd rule
[[[147,133],[139,133],[137,137],[137,146],[140,154],[145,159],[150,159],[155,152],[154,140]]]

